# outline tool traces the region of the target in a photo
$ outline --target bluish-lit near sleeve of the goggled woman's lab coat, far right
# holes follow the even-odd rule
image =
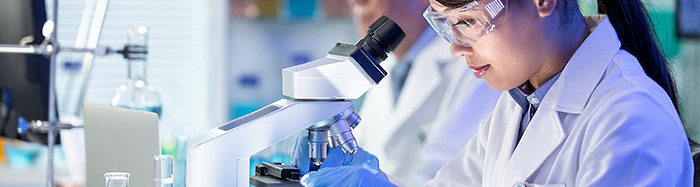
[[[622,92],[596,109],[574,186],[692,186],[685,131],[668,98],[656,96]]]

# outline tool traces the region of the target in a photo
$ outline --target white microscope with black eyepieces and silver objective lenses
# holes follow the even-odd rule
[[[337,43],[323,59],[283,69],[282,92],[290,99],[280,99],[188,141],[186,186],[248,186],[251,155],[302,130],[309,132],[309,159],[314,165],[325,160],[328,146],[355,153],[358,144],[351,129],[360,117],[347,99],[364,95],[386,76],[379,63],[404,38],[395,22],[381,16],[356,44]],[[270,171],[282,168],[268,167]]]

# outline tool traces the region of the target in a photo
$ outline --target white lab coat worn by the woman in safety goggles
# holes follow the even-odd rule
[[[620,46],[605,18],[561,71],[519,144],[521,107],[506,92],[426,185],[692,186],[692,155],[671,100]]]

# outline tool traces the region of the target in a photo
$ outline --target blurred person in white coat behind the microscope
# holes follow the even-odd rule
[[[500,92],[449,55],[449,43],[423,19],[428,0],[348,2],[359,36],[381,15],[406,33],[381,63],[388,75],[365,95],[353,134],[360,147],[377,155],[386,174],[406,186],[423,186],[477,132]]]

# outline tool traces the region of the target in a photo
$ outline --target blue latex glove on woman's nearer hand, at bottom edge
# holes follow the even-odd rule
[[[326,167],[302,177],[307,187],[396,186],[360,166]]]

